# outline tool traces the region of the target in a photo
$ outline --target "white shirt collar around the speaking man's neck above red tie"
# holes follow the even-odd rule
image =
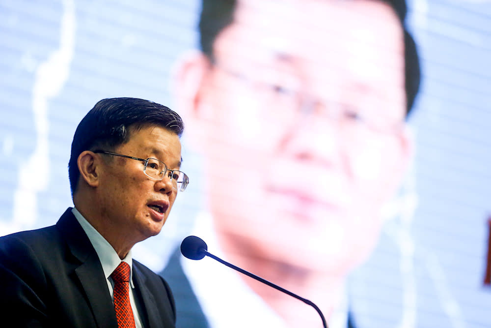
[[[133,284],[133,258],[131,254],[131,250],[128,252],[126,257],[121,260],[119,255],[116,253],[114,248],[111,246],[109,241],[107,241],[76,209],[72,209],[73,215],[77,221],[79,221],[82,226],[83,231],[90,240],[90,243],[94,247],[97,256],[99,256],[99,261],[101,261],[102,269],[104,271],[104,275],[106,279],[109,279],[111,273],[119,266],[121,261],[128,263],[130,266],[130,285],[132,288],[135,288]]]

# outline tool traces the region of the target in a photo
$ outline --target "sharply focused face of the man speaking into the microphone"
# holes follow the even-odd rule
[[[179,169],[179,137],[160,126],[130,128],[130,140],[112,152],[147,159],[156,158],[169,169]],[[157,235],[176,199],[177,190],[167,176],[155,180],[143,173],[142,161],[107,156],[98,197],[106,226],[117,229],[122,240],[135,242]],[[110,157],[109,157],[110,156]]]

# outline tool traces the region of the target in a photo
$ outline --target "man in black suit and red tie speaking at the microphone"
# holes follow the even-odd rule
[[[89,111],[69,161],[75,207],[54,226],[0,239],[2,327],[175,327],[169,285],[131,249],[161,231],[188,184],[183,128],[142,99],[103,99]]]

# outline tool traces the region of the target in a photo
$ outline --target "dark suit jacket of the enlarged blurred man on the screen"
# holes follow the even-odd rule
[[[198,299],[194,294],[191,284],[184,273],[181,266],[181,252],[176,249],[169,258],[167,266],[160,274],[174,286],[174,298],[176,301],[177,310],[177,328],[210,328],[210,324],[206,320],[203,309],[199,305]],[[192,260],[190,260],[192,261]],[[222,268],[217,268],[222,269]],[[227,270],[227,268],[223,268]],[[278,292],[280,293],[280,292]],[[239,297],[239,296],[237,296]],[[233,299],[230,299],[233,302]],[[299,306],[308,306],[299,301]],[[247,315],[253,315],[247,312]],[[320,319],[319,319],[320,321]],[[347,328],[356,328],[351,312],[348,313]]]

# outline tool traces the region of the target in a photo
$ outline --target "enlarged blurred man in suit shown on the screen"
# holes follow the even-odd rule
[[[405,15],[403,0],[205,0],[201,52],[177,70],[209,201],[192,234],[314,301],[331,327],[350,321],[347,275],[374,248],[411,159],[419,65]],[[321,324],[207,258],[174,254],[162,275],[179,286],[178,327]]]

